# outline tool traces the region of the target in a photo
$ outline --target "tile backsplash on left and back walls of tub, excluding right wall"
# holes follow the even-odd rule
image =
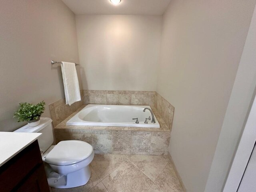
[[[65,98],[49,104],[54,127],[75,112],[82,104],[156,106],[155,91],[80,90],[80,94],[82,101],[71,106],[65,104]]]

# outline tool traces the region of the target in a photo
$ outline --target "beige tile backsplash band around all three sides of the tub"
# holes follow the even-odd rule
[[[82,104],[109,104],[154,106],[169,129],[172,128],[174,107],[155,91],[80,90],[80,93],[82,101],[71,106],[65,104],[65,98],[49,105],[54,127]]]

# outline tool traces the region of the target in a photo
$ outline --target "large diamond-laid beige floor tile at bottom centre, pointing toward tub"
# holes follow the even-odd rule
[[[130,162],[124,162],[104,180],[109,192],[146,192],[152,181]]]

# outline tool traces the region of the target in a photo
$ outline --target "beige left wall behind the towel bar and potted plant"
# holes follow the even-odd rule
[[[76,23],[61,0],[0,5],[0,131],[13,131],[24,125],[12,118],[19,102],[64,98],[60,65],[50,60],[79,62]],[[50,117],[48,105],[43,116]]]

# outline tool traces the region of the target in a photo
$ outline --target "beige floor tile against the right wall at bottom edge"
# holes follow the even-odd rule
[[[160,173],[155,180],[155,184],[158,185],[164,192],[182,192],[180,182],[175,174],[174,168],[170,163],[166,165],[164,170]]]

